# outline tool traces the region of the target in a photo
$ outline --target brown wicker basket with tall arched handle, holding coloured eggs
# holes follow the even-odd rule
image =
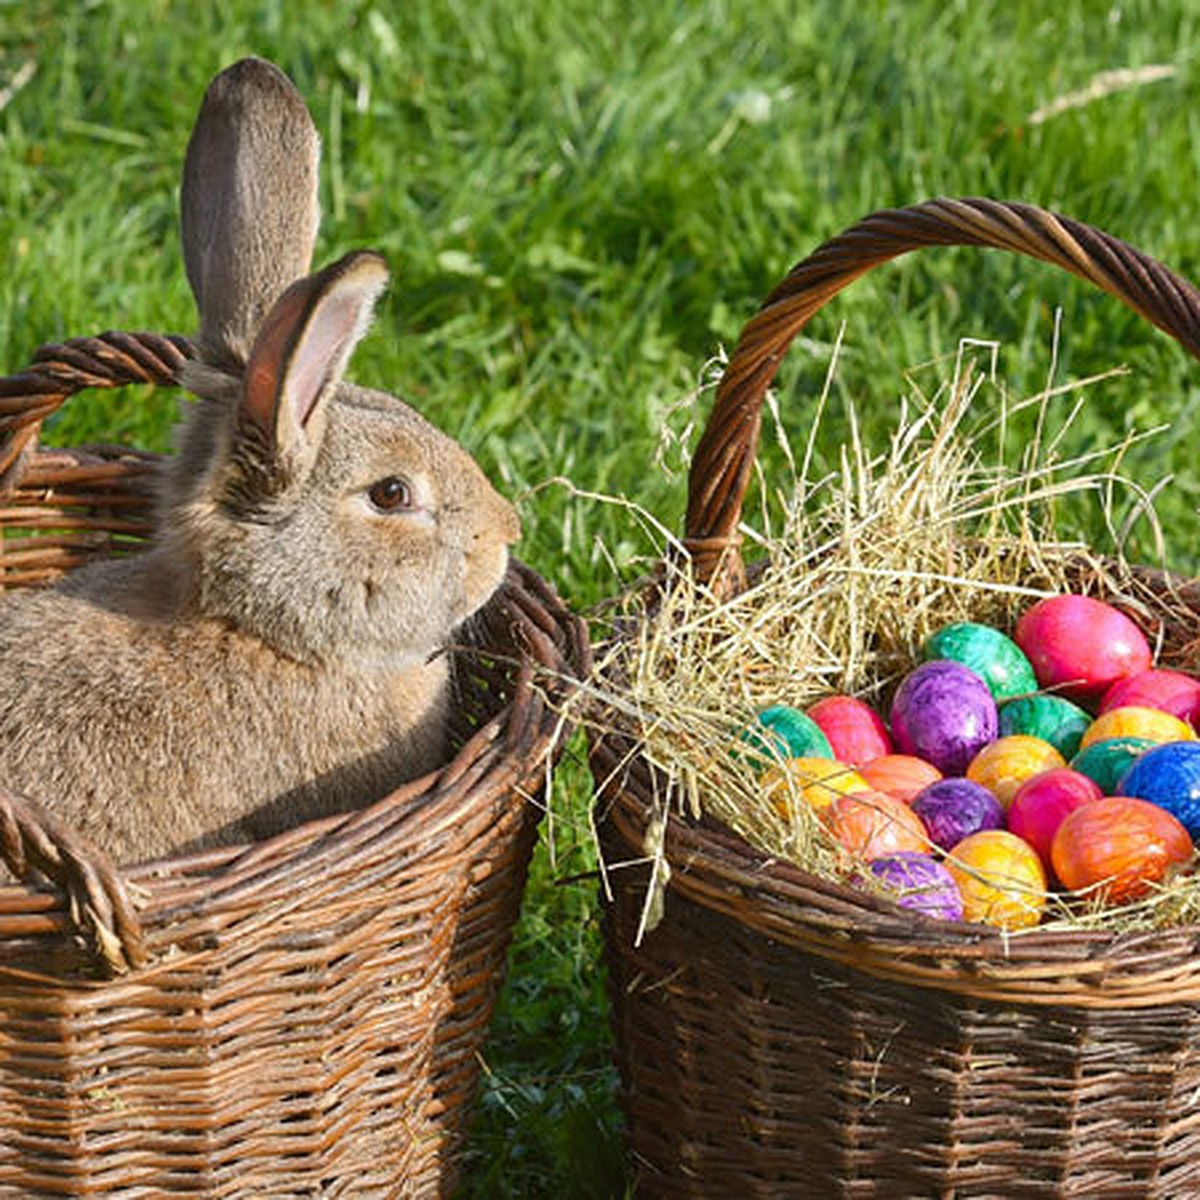
[[[797,265],[743,331],[689,482],[698,574],[737,588],[760,407],[805,322],[877,263],[1001,247],[1091,280],[1200,354],[1200,293],[1129,246],[1025,205],[866,217]],[[725,574],[714,580],[714,572]],[[1184,614],[1200,593],[1152,571]],[[1190,626],[1190,628],[1188,628]],[[608,864],[644,862],[666,781],[620,713],[592,739]],[[662,1196],[1200,1195],[1200,928],[1120,936],[920,918],[672,818],[665,916],[611,871],[606,943],[628,1141]]]

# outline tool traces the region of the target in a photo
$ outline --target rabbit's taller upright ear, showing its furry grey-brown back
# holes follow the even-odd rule
[[[292,82],[242,59],[209,85],[184,162],[187,278],[205,355],[245,361],[280,293],[308,271],[320,139]]]

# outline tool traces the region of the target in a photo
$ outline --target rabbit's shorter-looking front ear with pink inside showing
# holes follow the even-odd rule
[[[318,406],[341,379],[386,282],[380,254],[354,251],[293,283],[268,313],[246,364],[241,412],[277,461],[308,456]]]

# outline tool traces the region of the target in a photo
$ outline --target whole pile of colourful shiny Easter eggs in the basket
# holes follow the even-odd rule
[[[1013,637],[949,625],[922,658],[887,724],[840,695],[758,714],[744,738],[781,816],[810,805],[901,905],[1009,930],[1051,889],[1116,906],[1190,862],[1200,679],[1153,667],[1124,613],[1052,596]]]

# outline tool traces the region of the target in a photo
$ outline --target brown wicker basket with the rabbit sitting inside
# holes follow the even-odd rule
[[[4,587],[136,548],[155,456],[40,450],[37,426],[188,353],[109,334],[0,379]],[[37,881],[0,887],[0,1195],[452,1190],[558,702],[588,670],[520,564],[474,644],[448,766],[250,848],[121,870],[0,788],[0,853]]]

